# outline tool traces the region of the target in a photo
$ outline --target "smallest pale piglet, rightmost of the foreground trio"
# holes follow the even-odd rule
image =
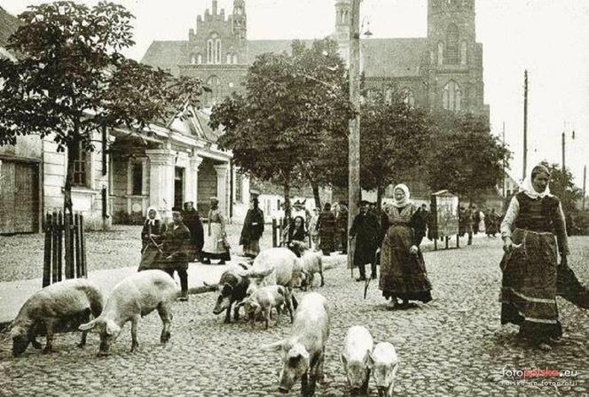
[[[389,342],[378,343],[370,354],[370,361],[379,397],[392,397],[399,363],[395,346]]]

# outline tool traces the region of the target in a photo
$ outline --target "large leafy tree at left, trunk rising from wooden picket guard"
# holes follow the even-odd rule
[[[200,81],[175,80],[122,56],[133,44],[133,16],[122,5],[58,1],[30,6],[19,18],[8,44],[19,59],[0,60],[0,144],[16,144],[17,136],[53,136],[59,151],[91,151],[95,131],[140,131],[150,121],[169,120],[180,103],[200,95]],[[68,214],[72,174],[68,161]]]

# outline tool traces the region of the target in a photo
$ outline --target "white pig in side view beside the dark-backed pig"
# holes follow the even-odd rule
[[[98,318],[80,325],[80,330],[94,330],[100,335],[98,355],[106,355],[122,331],[125,323],[131,322],[131,352],[139,346],[137,324],[139,319],[153,310],[158,311],[163,330],[160,341],[166,343],[170,338],[172,303],[180,290],[168,273],[161,270],[145,270],[123,279],[114,286],[106,300],[105,309]]]

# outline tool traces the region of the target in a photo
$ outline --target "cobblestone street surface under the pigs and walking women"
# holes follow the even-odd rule
[[[589,238],[571,238],[570,266],[589,281]],[[500,240],[481,238],[459,250],[428,252],[425,260],[434,300],[404,310],[390,310],[371,284],[350,281],[343,264],[326,271],[323,293],[332,326],[326,349],[326,382],[318,395],[346,395],[339,354],[349,326],[363,324],[376,341],[397,347],[400,366],[396,395],[412,396],[552,396],[589,394],[589,322],[586,311],[559,299],[564,337],[551,352],[540,352],[516,337],[516,328],[499,324]],[[326,261],[333,259],[326,259]],[[304,292],[296,292],[301,297]],[[157,315],[139,324],[140,351],[129,353],[130,326],[122,331],[113,354],[98,358],[98,336],[85,349],[79,334],[58,335],[56,352],[39,354],[29,347],[19,359],[10,341],[0,342],[0,395],[130,396],[273,396],[278,393],[279,354],[260,346],[288,334],[283,316],[269,331],[258,324],[224,324],[212,314],[216,295],[195,295],[177,303],[172,339],[159,343]],[[40,339],[43,340],[44,339]],[[513,385],[505,370],[575,370],[574,385]],[[371,381],[371,395],[376,395]],[[288,395],[298,395],[295,388]]]

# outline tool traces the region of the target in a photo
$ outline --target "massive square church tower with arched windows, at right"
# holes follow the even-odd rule
[[[475,0],[428,0],[429,107],[486,113]]]

